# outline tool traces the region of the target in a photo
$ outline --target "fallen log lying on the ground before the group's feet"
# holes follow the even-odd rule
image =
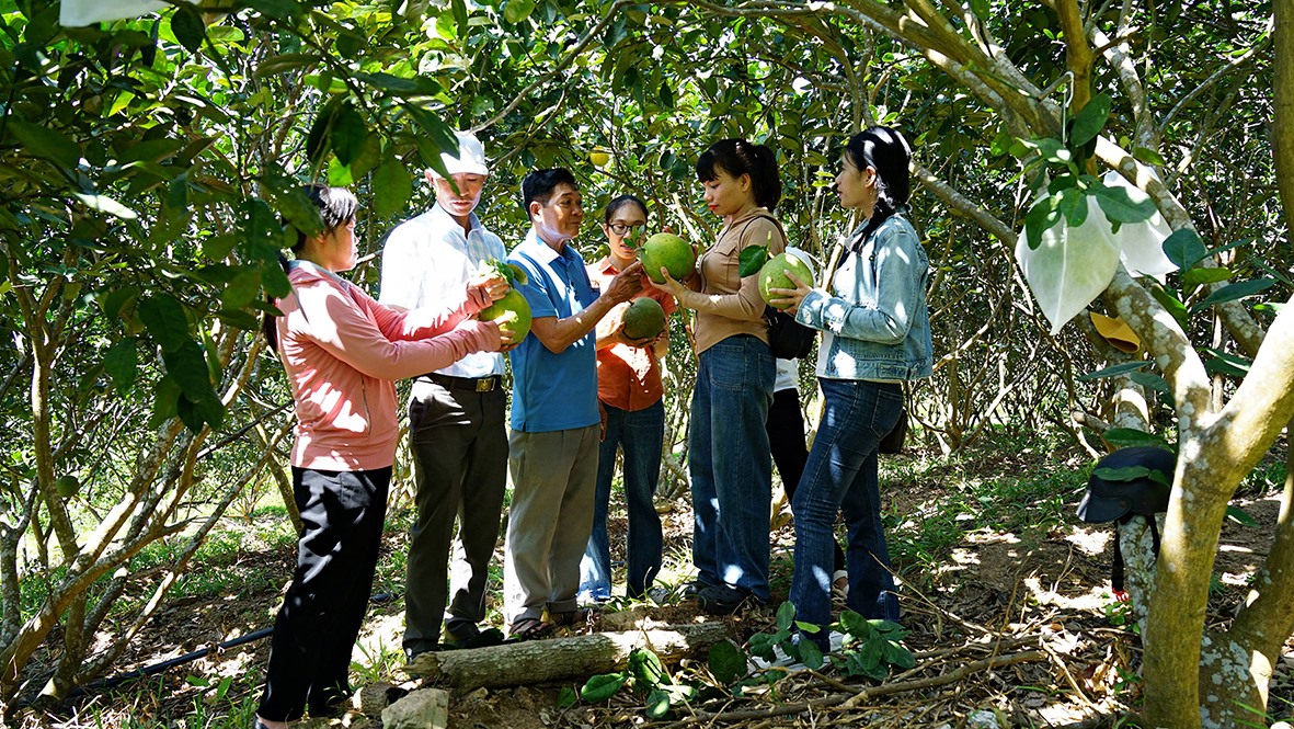
[[[423,653],[404,669],[410,676],[458,690],[521,686],[587,679],[625,667],[629,654],[647,647],[665,663],[704,655],[729,637],[723,623],[688,623],[652,629],[589,633],[506,644],[474,650]]]

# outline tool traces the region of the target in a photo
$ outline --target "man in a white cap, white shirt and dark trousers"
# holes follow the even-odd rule
[[[458,155],[443,154],[441,161],[454,185],[427,170],[436,203],[387,238],[382,255],[384,304],[437,306],[461,295],[483,262],[507,255],[503,241],[472,212],[489,176],[481,142],[472,133],[458,132]],[[418,521],[409,543],[404,634],[410,659],[440,646],[441,620],[445,642],[455,647],[502,641],[497,628],[483,632],[477,625],[485,619],[485,583],[507,480],[507,392],[502,379],[503,356],[477,352],[413,383],[409,440]]]

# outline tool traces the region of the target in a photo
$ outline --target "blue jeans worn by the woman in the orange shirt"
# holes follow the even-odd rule
[[[665,403],[642,410],[621,410],[606,403],[607,434],[598,447],[598,491],[593,502],[593,533],[580,562],[581,600],[611,598],[611,548],[607,544],[607,504],[616,451],[625,453],[625,506],[629,511],[629,575],[626,593],[642,597],[660,572],[660,514],[652,495],[660,478],[660,449],[665,440]]]

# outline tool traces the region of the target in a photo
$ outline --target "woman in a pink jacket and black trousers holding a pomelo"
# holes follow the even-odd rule
[[[264,326],[296,403],[292,487],[304,532],[274,620],[255,729],[285,728],[307,706],[314,716],[331,713],[351,693],[351,649],[373,587],[399,436],[393,381],[503,350],[512,337],[472,319],[507,293],[503,278],[470,282],[445,311],[405,313],[340,278],[356,263],[358,203],[342,188],[307,193],[324,232],[292,247],[292,293],[273,302],[283,316]]]

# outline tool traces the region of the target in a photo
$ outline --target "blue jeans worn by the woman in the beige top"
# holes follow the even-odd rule
[[[692,480],[692,562],[703,585],[726,585],[767,602],[773,458],[769,346],[748,334],[700,355],[692,391],[687,466]]]

